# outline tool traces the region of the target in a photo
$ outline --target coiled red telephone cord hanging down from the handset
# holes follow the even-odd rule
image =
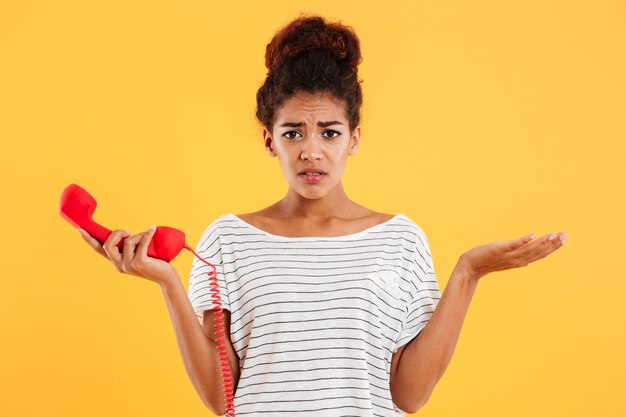
[[[222,385],[224,387],[224,400],[226,401],[226,414],[229,417],[235,417],[235,403],[233,396],[233,376],[228,361],[228,353],[226,352],[226,340],[224,339],[224,310],[222,309],[222,301],[220,298],[219,284],[217,282],[217,270],[215,265],[205,261],[192,248],[185,245],[186,249],[193,252],[198,259],[213,268],[213,271],[207,272],[211,286],[211,298],[213,298],[213,313],[215,320],[213,328],[215,329],[215,344],[217,346],[217,354],[220,360],[220,368],[222,369]]]

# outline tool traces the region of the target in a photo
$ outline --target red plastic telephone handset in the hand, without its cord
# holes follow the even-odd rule
[[[111,231],[93,221],[93,212],[98,203],[85,189],[76,184],[70,184],[61,194],[59,214],[74,227],[80,227],[104,243]],[[122,238],[117,246],[124,247]],[[185,233],[173,227],[158,226],[148,244],[148,256],[169,262],[174,259],[185,247]]]

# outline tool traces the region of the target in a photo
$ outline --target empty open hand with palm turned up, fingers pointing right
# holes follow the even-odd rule
[[[468,250],[461,259],[471,276],[478,279],[490,272],[519,268],[548,256],[563,246],[567,233],[548,233],[539,239],[533,238],[534,234],[529,234],[515,240],[487,243]]]

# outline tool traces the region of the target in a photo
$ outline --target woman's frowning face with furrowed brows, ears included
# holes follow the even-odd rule
[[[265,148],[278,156],[290,188],[305,198],[326,195],[341,183],[348,155],[359,146],[361,128],[350,132],[345,101],[328,93],[298,92],[276,112],[271,134],[263,130]],[[317,168],[319,176],[303,169]]]

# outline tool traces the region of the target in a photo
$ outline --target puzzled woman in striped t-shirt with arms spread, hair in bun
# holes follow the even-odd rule
[[[220,216],[198,244],[218,273],[238,415],[415,412],[450,362],[479,279],[565,242],[564,233],[527,235],[473,248],[441,295],[422,229],[343,189],[360,143],[360,61],[354,31],[322,17],[300,17],[274,36],[257,117],[287,194]],[[80,232],[118,271],[162,287],[194,387],[211,411],[226,413],[207,265],[194,258],[186,294],[169,263],[147,257],[153,230],[128,237],[121,253],[116,244],[129,232],[102,246]]]

